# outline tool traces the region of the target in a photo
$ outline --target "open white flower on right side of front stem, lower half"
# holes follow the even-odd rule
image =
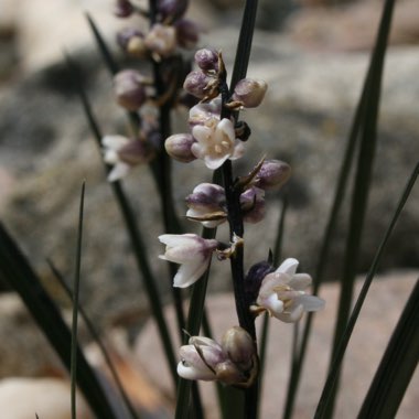
[[[297,259],[286,259],[272,273],[268,273],[260,286],[257,305],[251,311],[268,311],[270,315],[287,323],[301,319],[304,311],[318,311],[324,307],[324,300],[308,296],[303,291],[311,283],[308,273],[296,273]]]

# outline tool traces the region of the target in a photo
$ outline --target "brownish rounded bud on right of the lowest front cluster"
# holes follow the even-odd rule
[[[223,351],[241,370],[251,368],[255,357],[255,343],[241,327],[228,329],[222,339]]]

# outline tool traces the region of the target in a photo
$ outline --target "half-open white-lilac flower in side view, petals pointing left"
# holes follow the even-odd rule
[[[181,265],[173,278],[173,286],[179,288],[186,288],[201,278],[218,246],[217,240],[196,234],[163,234],[159,240],[166,246],[164,255],[159,258]]]

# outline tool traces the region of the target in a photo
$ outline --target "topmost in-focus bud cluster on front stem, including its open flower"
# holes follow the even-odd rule
[[[244,154],[243,141],[249,137],[245,122],[222,118],[221,90],[225,87],[226,72],[222,54],[203,49],[195,53],[197,71],[191,72],[183,84],[184,89],[201,100],[190,110],[191,133],[180,133],[166,139],[168,153],[181,162],[195,159],[204,161],[208,169],[218,169],[227,159]],[[256,107],[264,99],[267,85],[262,80],[245,78],[237,83],[225,107],[229,110]]]

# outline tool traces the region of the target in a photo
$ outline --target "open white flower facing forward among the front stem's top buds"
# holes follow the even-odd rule
[[[233,122],[224,118],[208,118],[203,125],[192,129],[195,138],[191,147],[192,153],[205,162],[208,169],[218,169],[227,159],[238,159],[244,153],[243,143],[236,140]]]

